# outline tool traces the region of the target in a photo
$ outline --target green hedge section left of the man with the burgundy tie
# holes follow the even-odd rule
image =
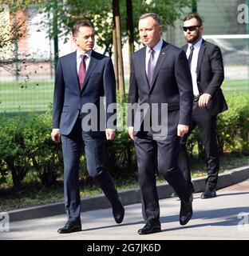
[[[51,127],[51,107],[42,115],[1,118],[0,184],[6,182],[10,172],[14,187],[19,187],[32,170],[37,171],[42,185],[55,182],[62,170],[62,154],[60,146],[50,138]]]

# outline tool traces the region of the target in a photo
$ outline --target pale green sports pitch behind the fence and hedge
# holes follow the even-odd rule
[[[225,93],[238,90],[249,91],[248,80],[227,80],[222,86]],[[125,92],[128,93],[128,80],[125,81]],[[1,82],[0,113],[45,111],[53,102],[53,81],[41,82]]]

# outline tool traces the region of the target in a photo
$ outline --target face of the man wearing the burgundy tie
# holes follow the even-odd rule
[[[92,27],[81,26],[73,41],[81,48],[83,53],[93,50],[95,32]]]

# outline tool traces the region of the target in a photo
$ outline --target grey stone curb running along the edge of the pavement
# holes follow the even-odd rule
[[[192,180],[195,192],[201,192],[205,189],[205,177],[195,178]],[[219,174],[217,190],[227,186],[235,185],[236,183],[243,182],[249,178],[249,165],[227,170]],[[172,186],[168,184],[161,184],[157,186],[158,198],[169,198],[174,192]],[[121,201],[124,206],[140,202],[140,190],[121,190],[119,191]],[[99,210],[110,208],[109,201],[105,198],[104,194],[89,196],[81,200],[81,211]],[[32,218],[45,218],[54,215],[65,214],[64,202],[52,203],[44,206],[33,206],[23,208],[20,210],[10,210],[7,212],[10,216],[10,222],[18,222]]]

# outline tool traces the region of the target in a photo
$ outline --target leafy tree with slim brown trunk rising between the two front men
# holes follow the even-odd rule
[[[57,0],[44,2],[47,13],[52,12],[54,1]],[[173,24],[176,18],[180,17],[186,6],[192,6],[192,0],[57,1],[57,34],[60,36],[69,34],[73,24],[79,19],[91,20],[97,31],[97,46],[101,46],[103,54],[108,53],[109,56],[112,56],[114,51],[117,84],[121,90],[121,98],[124,100],[124,74],[120,42],[124,44],[128,41],[129,58],[131,58],[134,42],[139,42],[137,24],[140,14],[146,12],[158,14],[162,19],[164,29],[166,29],[168,25]],[[120,12],[120,15],[117,16],[117,12]],[[119,22],[121,31],[117,26]],[[49,30],[49,35],[50,38],[54,37],[54,28]],[[119,39],[120,36],[121,39]]]

